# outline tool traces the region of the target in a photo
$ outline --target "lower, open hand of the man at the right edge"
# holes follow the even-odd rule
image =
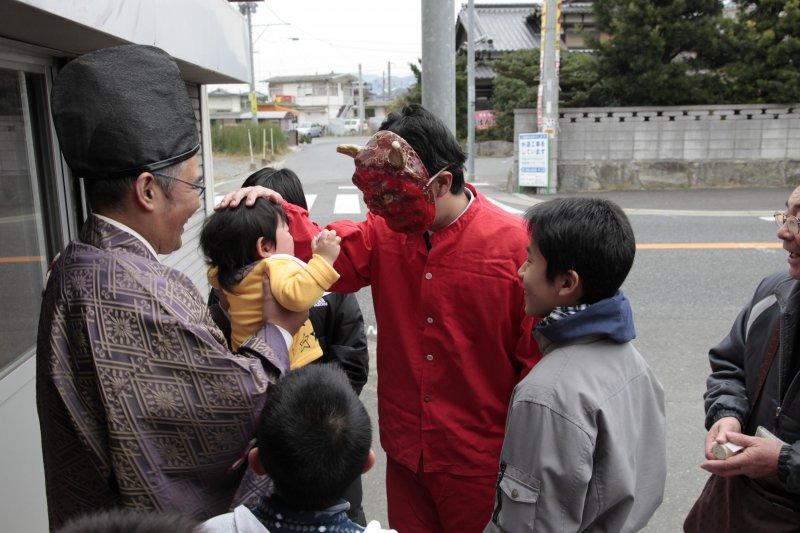
[[[778,456],[783,446],[781,442],[733,432],[729,432],[727,438],[728,442],[744,446],[745,449],[729,459],[706,461],[700,468],[722,477],[743,475],[759,478],[778,473]]]

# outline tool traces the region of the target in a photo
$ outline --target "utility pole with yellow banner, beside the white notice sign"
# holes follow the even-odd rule
[[[561,64],[561,0],[542,2],[542,44],[536,114],[539,132],[549,136],[548,193],[558,189],[558,74]]]

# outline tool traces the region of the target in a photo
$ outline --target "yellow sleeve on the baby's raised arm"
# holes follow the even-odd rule
[[[303,267],[290,258],[268,261],[272,296],[290,311],[311,309],[317,300],[339,279],[334,268],[319,255]]]

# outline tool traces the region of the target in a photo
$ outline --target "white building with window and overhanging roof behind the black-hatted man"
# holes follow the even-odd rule
[[[53,79],[70,59],[100,48],[140,43],[166,50],[186,82],[205,185],[213,191],[205,84],[250,78],[247,25],[220,0],[3,0],[0,35],[0,529],[47,531],[36,329],[47,266],[77,238],[88,212],[50,117]],[[181,249],[161,258],[201,291],[208,283],[198,237],[213,196],[186,224]]]

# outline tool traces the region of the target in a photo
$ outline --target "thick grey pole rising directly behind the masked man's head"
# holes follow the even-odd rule
[[[454,0],[422,0],[422,105],[456,132]]]

